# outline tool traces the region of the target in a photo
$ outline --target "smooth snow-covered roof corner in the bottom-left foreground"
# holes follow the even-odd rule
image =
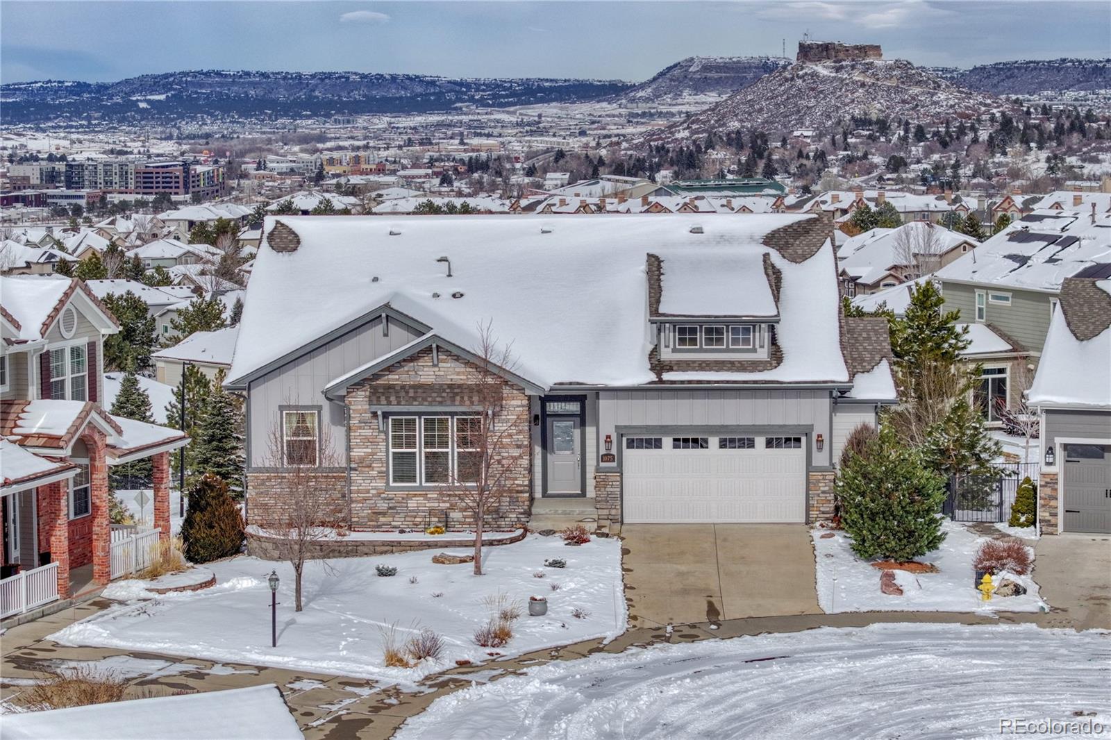
[[[230,740],[303,738],[273,683],[229,691],[132,699],[43,712],[7,714],[4,738]]]

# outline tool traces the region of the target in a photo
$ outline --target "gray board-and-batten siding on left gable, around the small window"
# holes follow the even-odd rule
[[[340,376],[368,364],[420,336],[417,329],[393,319],[389,321],[389,333],[383,336],[382,319],[376,318],[258,380],[252,380],[248,391],[250,467],[272,467],[270,431],[280,422],[279,411],[282,406],[322,407],[321,428],[328,428],[332,451],[342,461],[341,464],[347,464],[343,404],[328,401],[323,396],[324,387]]]

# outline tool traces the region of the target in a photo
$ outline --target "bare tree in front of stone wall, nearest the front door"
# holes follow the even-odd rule
[[[474,417],[458,417],[457,464],[449,489],[474,518],[474,574],[482,574],[482,532],[487,516],[528,476],[529,407],[506,398],[508,381],[499,373],[517,367],[512,344],[499,344],[489,322],[479,324],[476,360],[467,366],[467,389]]]

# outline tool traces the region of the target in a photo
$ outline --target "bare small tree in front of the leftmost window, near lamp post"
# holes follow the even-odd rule
[[[296,400],[287,406],[298,406]],[[301,578],[307,560],[318,558],[317,542],[336,536],[344,527],[343,504],[321,483],[321,468],[339,468],[343,461],[332,446],[332,436],[320,414],[292,411],[281,414],[269,431],[267,464],[281,471],[278,494],[281,504],[259,517],[278,549],[293,567],[296,610],[301,611]],[[328,569],[328,561],[324,560]]]

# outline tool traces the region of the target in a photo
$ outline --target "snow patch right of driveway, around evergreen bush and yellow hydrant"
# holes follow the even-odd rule
[[[945,541],[933,552],[917,558],[937,566],[937,573],[909,573],[897,570],[895,582],[902,596],[880,591],[880,571],[860,560],[849,548],[852,538],[843,530],[815,529],[814,557],[818,603],[822,611],[1048,611],[1049,606],[1038,596],[1038,584],[1029,576],[1015,577],[1025,588],[1025,596],[992,598],[982,601],[975,590],[972,560],[980,544],[988,540],[963,524],[945,520]],[[822,534],[833,537],[823,538]]]

